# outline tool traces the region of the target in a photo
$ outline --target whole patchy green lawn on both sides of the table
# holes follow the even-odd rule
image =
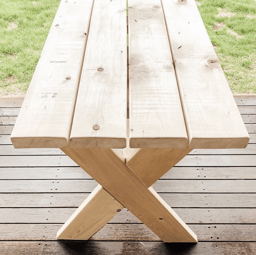
[[[0,95],[24,95],[60,0],[0,2]],[[256,93],[256,1],[197,0],[233,93]]]

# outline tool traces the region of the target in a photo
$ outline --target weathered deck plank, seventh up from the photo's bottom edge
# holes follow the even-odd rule
[[[77,166],[66,155],[0,156],[0,160],[2,167]],[[187,155],[176,166],[256,166],[256,158],[254,155]]]

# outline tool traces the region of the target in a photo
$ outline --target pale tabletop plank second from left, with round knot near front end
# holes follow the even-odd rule
[[[126,1],[94,2],[70,135],[73,148],[126,146],[126,17]]]

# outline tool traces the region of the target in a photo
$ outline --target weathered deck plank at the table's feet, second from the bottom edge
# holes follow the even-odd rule
[[[255,241],[254,224],[189,224],[188,226],[197,233],[199,241]],[[0,224],[2,229],[0,240],[56,240],[56,232],[60,227],[61,224]],[[160,241],[159,237],[143,224],[107,224],[90,240]]]

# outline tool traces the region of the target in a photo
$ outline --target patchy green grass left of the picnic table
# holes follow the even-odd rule
[[[23,95],[27,91],[59,2],[1,2],[0,95]]]

